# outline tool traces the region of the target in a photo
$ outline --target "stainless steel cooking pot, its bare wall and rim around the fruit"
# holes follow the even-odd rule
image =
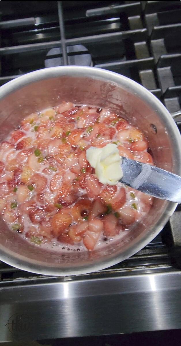
[[[51,67],[25,74],[0,88],[0,141],[22,118],[62,101],[108,108],[138,126],[150,143],[156,166],[181,175],[180,133],[163,104],[138,83],[94,67]],[[154,199],[143,219],[120,241],[92,252],[33,245],[0,221],[0,260],[47,275],[98,271],[132,256],[161,231],[177,204]]]

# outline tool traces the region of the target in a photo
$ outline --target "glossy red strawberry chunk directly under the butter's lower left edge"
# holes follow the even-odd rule
[[[84,180],[84,188],[90,198],[97,197],[102,190],[103,184],[99,182],[96,176],[92,174],[86,174]]]

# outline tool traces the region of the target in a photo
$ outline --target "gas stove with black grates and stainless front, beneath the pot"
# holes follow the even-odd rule
[[[0,12],[0,85],[45,67],[95,66],[181,108],[181,1],[2,1]],[[180,224],[178,206],[145,248],[91,274],[0,262],[0,342],[181,328]]]

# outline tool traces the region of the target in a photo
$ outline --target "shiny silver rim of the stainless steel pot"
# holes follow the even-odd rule
[[[181,141],[179,130],[172,119],[169,111],[164,107],[164,105],[147,89],[137,82],[118,74],[116,72],[111,72],[96,67],[85,67],[85,66],[59,66],[59,67],[49,67],[46,69],[41,69],[27,73],[20,76],[0,87],[0,99],[6,97],[8,94],[15,90],[23,88],[25,85],[30,83],[49,79],[57,78],[61,76],[82,76],[90,77],[93,79],[108,81],[113,84],[121,86],[130,93],[136,95],[137,97],[144,100],[156,113],[159,115],[160,119],[164,122],[165,127],[169,128],[169,134],[173,143],[175,157],[177,157],[177,162],[175,166],[175,174],[181,175]],[[126,248],[123,252],[117,255],[112,255],[111,258],[104,258],[100,260],[90,261],[90,263],[85,264],[84,261],[77,266],[72,268],[71,264],[69,266],[64,265],[62,267],[60,264],[48,265],[41,261],[28,260],[24,256],[16,254],[12,251],[7,250],[4,246],[0,245],[0,257],[1,260],[11,266],[15,266],[19,269],[26,270],[29,272],[44,274],[44,275],[78,275],[86,274],[94,271],[99,271],[107,267],[113,266],[126,258],[132,256],[144,246],[151,242],[157,234],[162,230],[166,222],[169,220],[170,216],[177,207],[177,203],[167,202],[165,205],[164,212],[162,213],[159,220],[157,220],[154,230],[150,230],[149,233],[145,234],[144,237],[138,236],[133,242],[132,246]]]

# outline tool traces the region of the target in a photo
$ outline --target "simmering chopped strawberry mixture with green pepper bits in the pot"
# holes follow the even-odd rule
[[[152,198],[98,181],[85,153],[108,143],[153,164],[142,131],[107,109],[62,102],[22,120],[0,148],[0,212],[9,228],[36,245],[93,250],[132,227]]]

